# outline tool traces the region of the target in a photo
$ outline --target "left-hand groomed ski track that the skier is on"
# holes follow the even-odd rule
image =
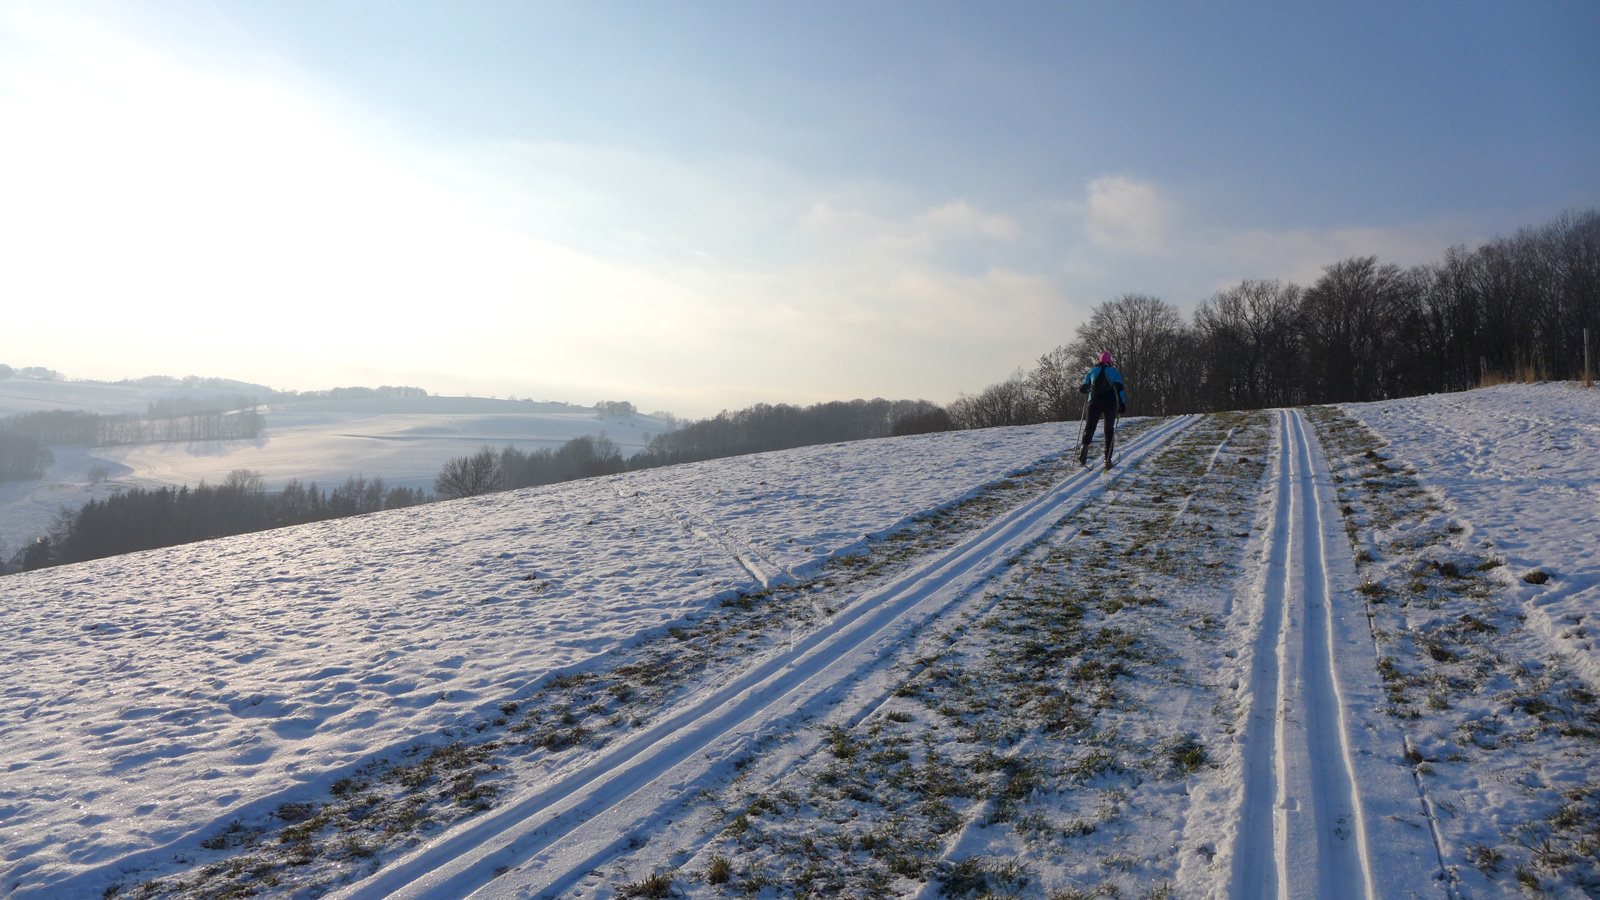
[[[582,769],[426,844],[334,900],[554,897],[650,836],[651,828],[768,735],[837,703],[912,634],[979,589],[1125,468],[1192,424],[1160,423],[1123,468],[1075,472],[914,572],[856,599],[827,625],[730,684],[670,711]]]

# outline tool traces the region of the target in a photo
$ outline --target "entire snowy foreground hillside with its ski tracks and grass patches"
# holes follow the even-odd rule
[[[11,577],[0,895],[1592,897],[1597,423],[920,436]]]

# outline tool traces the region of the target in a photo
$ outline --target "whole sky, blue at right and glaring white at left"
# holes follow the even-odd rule
[[[1589,2],[0,0],[0,362],[947,402],[1126,291],[1597,205],[1597,37]]]

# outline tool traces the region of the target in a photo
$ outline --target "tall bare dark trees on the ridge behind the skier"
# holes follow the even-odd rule
[[[958,397],[960,428],[1078,418],[1078,383],[1109,351],[1128,412],[1176,415],[1387,400],[1496,380],[1594,378],[1600,346],[1600,213],[1566,213],[1477,250],[1410,269],[1357,256],[1310,287],[1245,280],[1184,319],[1123,295],[1099,304],[1070,343],[1000,384]],[[1590,351],[1594,352],[1594,351]]]

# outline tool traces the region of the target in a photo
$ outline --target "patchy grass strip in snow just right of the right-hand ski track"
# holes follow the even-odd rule
[[[1600,897],[1600,701],[1525,628],[1493,546],[1469,543],[1370,429],[1312,410],[1362,564],[1389,713],[1462,897]],[[1494,810],[1494,815],[1485,815]]]

